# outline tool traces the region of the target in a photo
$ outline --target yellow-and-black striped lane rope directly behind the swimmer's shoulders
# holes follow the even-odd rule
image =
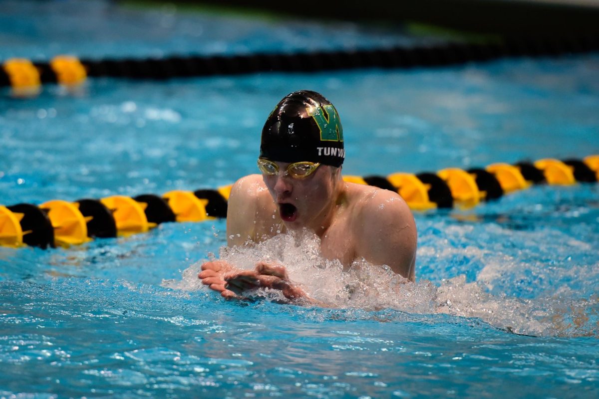
[[[450,167],[437,172],[388,176],[344,176],[347,182],[396,191],[413,211],[471,208],[532,185],[573,185],[599,181],[599,155],[579,159],[540,159],[485,168]],[[196,191],[173,190],[158,196],[109,196],[41,205],[0,205],[0,245],[56,248],[95,238],[149,232],[161,223],[226,218],[232,185]]]

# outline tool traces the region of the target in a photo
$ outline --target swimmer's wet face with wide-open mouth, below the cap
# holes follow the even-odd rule
[[[289,163],[275,162],[279,173],[262,174],[270,195],[286,226],[309,227],[315,231],[331,217],[338,168],[321,165],[311,175],[296,179],[286,173]]]

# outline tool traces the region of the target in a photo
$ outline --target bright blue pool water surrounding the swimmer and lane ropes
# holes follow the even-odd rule
[[[0,58],[423,40],[349,23],[164,11],[3,2]],[[599,153],[598,72],[599,56],[588,54],[411,71],[102,79],[74,93],[47,86],[33,99],[5,90],[0,204],[230,184],[256,172],[262,123],[297,89],[335,103],[350,175],[582,158]],[[597,184],[536,186],[469,210],[417,213],[416,284],[398,294],[375,278],[379,296],[332,309],[225,302],[199,287],[196,262],[225,245],[223,220],[68,249],[0,247],[0,397],[597,397],[598,194]],[[298,256],[288,242],[270,245]],[[289,264],[292,277],[316,295],[346,278],[304,266]]]

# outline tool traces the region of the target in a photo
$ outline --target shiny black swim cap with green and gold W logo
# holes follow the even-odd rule
[[[345,150],[337,109],[316,92],[300,90],[285,96],[262,128],[260,157],[341,166]]]

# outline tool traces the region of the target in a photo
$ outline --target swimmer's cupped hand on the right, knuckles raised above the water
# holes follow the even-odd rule
[[[291,281],[285,266],[259,262],[255,270],[243,270],[242,272],[227,273],[225,290],[242,296],[244,291],[256,288],[270,288],[279,290],[283,296],[290,301],[298,301],[306,298],[304,290],[296,287]],[[223,295],[224,296],[224,295]]]

